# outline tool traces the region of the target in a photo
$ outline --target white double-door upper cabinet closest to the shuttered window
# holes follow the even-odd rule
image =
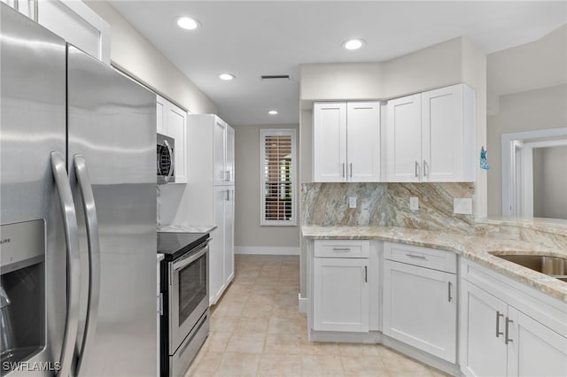
[[[314,181],[380,181],[380,103],[314,104]]]

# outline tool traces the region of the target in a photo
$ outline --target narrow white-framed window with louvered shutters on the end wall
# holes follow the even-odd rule
[[[260,225],[296,225],[294,129],[260,130]]]

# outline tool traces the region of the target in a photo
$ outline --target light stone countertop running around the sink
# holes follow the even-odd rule
[[[432,249],[454,251],[480,265],[492,268],[534,289],[567,302],[567,282],[517,265],[494,254],[547,255],[567,258],[567,250],[542,249],[532,242],[501,240],[491,237],[431,232],[408,227],[301,227],[304,238],[336,240],[379,240],[407,243]]]

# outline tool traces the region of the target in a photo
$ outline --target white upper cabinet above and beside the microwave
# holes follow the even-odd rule
[[[187,112],[156,96],[156,131],[175,139],[175,183],[187,183]]]

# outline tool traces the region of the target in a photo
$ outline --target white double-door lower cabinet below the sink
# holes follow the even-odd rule
[[[466,272],[466,267],[463,271]],[[479,281],[487,284],[485,289],[494,287],[492,292],[462,280],[462,373],[467,376],[566,376],[567,337],[542,324],[548,320],[545,316],[532,318],[506,301],[517,300],[515,304],[552,315],[554,308],[521,295],[521,291],[515,296],[517,291],[503,284],[493,284],[494,281],[488,279]],[[559,328],[567,332],[564,312],[557,318]]]

